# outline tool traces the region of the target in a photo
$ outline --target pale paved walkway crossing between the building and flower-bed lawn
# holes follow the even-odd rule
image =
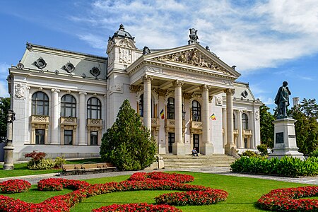
[[[6,181],[8,179],[25,179],[31,184],[37,184],[41,179],[45,178],[65,178],[65,179],[91,179],[91,178],[101,178],[101,177],[114,177],[120,175],[132,175],[135,172],[153,172],[153,171],[188,171],[188,172],[202,172],[202,173],[211,173],[218,175],[230,175],[236,177],[254,177],[259,179],[272,179],[284,182],[295,182],[303,184],[317,184],[318,177],[277,177],[269,175],[247,175],[240,173],[230,172],[230,167],[206,167],[206,168],[187,168],[187,169],[164,169],[164,170],[143,170],[143,171],[129,171],[129,172],[105,172],[100,174],[91,174],[91,175],[68,175],[68,176],[57,176],[56,173],[46,174],[46,175],[28,175],[21,177],[5,177],[0,178],[0,182]]]

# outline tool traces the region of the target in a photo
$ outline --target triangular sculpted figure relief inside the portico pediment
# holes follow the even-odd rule
[[[154,59],[158,61],[177,61],[184,64],[200,66],[208,69],[222,71],[226,74],[230,74],[225,68],[217,64],[216,61],[213,61],[211,58],[199,52],[197,49],[189,49],[184,52],[167,54],[164,56],[156,57]]]

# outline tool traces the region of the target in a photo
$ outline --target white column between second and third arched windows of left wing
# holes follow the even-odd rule
[[[87,145],[88,141],[86,141],[86,117],[85,117],[85,107],[86,107],[86,101],[85,101],[85,95],[87,95],[86,92],[79,92],[78,93],[79,98],[79,113],[78,113],[78,119],[79,119],[79,135],[78,135],[78,145]]]

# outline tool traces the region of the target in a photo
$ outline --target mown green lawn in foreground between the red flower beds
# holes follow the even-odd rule
[[[254,203],[262,194],[266,194],[271,189],[300,187],[308,184],[295,184],[288,182],[279,182],[274,180],[256,179],[249,177],[232,177],[223,175],[204,174],[196,172],[179,172],[194,176],[194,182],[191,184],[204,185],[215,189],[223,189],[229,193],[228,199],[215,205],[208,206],[179,206],[182,211],[261,211],[254,207]],[[91,184],[105,182],[120,182],[129,177],[105,177],[100,179],[88,179]],[[33,186],[31,192],[21,194],[11,194],[14,198],[19,198],[24,201],[40,202],[50,196],[65,194],[69,190],[61,192],[38,192]],[[91,211],[93,208],[99,208],[110,204],[127,204],[137,202],[147,202],[155,204],[154,197],[159,194],[175,191],[138,191],[138,192],[117,192],[111,194],[102,194],[93,196],[77,204],[71,211]],[[5,194],[7,195],[7,194]]]

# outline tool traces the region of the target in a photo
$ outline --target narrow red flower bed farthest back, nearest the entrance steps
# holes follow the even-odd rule
[[[194,177],[191,175],[181,175],[176,173],[165,173],[165,172],[150,172],[150,173],[136,172],[133,175],[131,175],[128,180],[143,181],[147,179],[155,179],[155,180],[168,179],[168,180],[180,182],[180,183],[194,181]]]

